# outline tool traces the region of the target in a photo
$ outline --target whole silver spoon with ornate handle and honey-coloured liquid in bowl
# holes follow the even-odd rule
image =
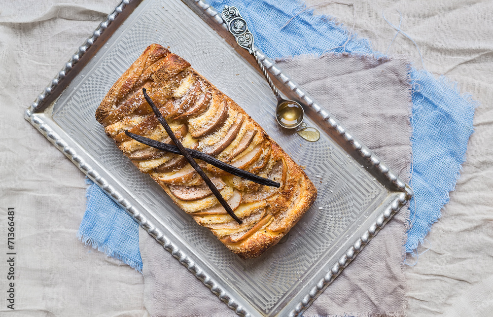
[[[274,95],[278,100],[276,107],[276,120],[277,122],[286,129],[294,129],[303,122],[305,117],[305,111],[303,107],[297,102],[289,99],[283,99],[281,94],[277,90],[276,86],[272,82],[271,77],[267,73],[267,70],[262,65],[262,62],[258,59],[257,52],[253,47],[253,34],[248,31],[245,19],[240,15],[238,8],[234,6],[224,6],[224,10],[221,14],[222,19],[228,26],[229,32],[235,37],[238,45],[243,47],[253,55],[255,61],[257,61],[258,67],[262,70],[267,83],[271,87]]]

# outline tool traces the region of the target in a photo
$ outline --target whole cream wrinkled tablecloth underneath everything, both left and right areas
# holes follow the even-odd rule
[[[83,174],[22,118],[118,2],[0,0],[0,218],[5,219],[6,207],[16,207],[18,234],[17,310],[6,312],[0,305],[0,316],[145,314],[141,274],[75,239],[85,209]],[[406,311],[410,317],[492,316],[493,2],[344,1],[348,6],[307,0],[317,3],[323,3],[316,7],[319,13],[347,26],[355,17],[356,32],[381,52],[395,35],[382,13],[397,26],[399,10],[401,29],[419,45],[426,68],[457,80],[462,91],[481,101],[456,191],[427,237],[431,244],[418,252],[430,249],[415,266],[406,266]],[[389,53],[410,54],[421,65],[416,46],[403,35]],[[0,238],[6,237],[3,223]],[[0,250],[5,249],[6,240],[0,239]],[[0,276],[6,276],[5,260],[1,255]],[[407,262],[414,264],[416,258]],[[5,282],[0,279],[2,292]]]

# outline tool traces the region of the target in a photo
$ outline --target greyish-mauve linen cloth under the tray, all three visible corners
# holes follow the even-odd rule
[[[412,104],[407,59],[328,54],[321,58],[282,59],[277,64],[388,162],[401,179],[409,181]],[[405,316],[402,262],[406,211],[402,208],[387,223],[303,316]],[[233,313],[202,282],[180,270],[178,261],[163,252],[154,238],[143,229],[140,232],[144,305],[151,316],[196,316],[202,307],[208,307],[203,313],[211,316]]]

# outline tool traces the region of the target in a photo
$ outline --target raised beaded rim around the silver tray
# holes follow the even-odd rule
[[[100,186],[106,194],[108,194],[119,206],[121,206],[127,213],[129,213],[140,225],[146,230],[152,237],[154,237],[163,247],[169,251],[183,266],[185,266],[190,272],[192,272],[197,279],[204,283],[211,289],[211,292],[217,295],[217,297],[225,302],[229,308],[234,310],[239,316],[249,317],[251,316],[244,307],[240,306],[230,294],[228,294],[215,280],[213,280],[208,274],[206,274],[197,264],[190,260],[183,252],[173,244],[170,239],[159,229],[157,229],[150,221],[148,221],[142,214],[135,209],[134,206],[123,198],[123,196],[116,191],[113,186],[99,175],[92,167],[87,164],[82,157],[76,154],[66,141],[64,141],[51,127],[46,124],[41,118],[35,116],[36,111],[40,110],[43,101],[48,97],[53,90],[66,78],[67,74],[73,68],[84,53],[96,42],[109,24],[115,20],[118,14],[120,14],[130,2],[138,0],[122,0],[115,10],[108,15],[106,20],[102,22],[98,28],[94,31],[93,35],[89,37],[83,45],[81,45],[77,52],[70,58],[70,61],[65,64],[64,69],[60,70],[58,75],[53,78],[50,84],[38,95],[36,100],[31,106],[26,109],[24,117],[28,120],[41,134],[43,134],[49,141],[51,141],[62,153],[64,153],[85,175],[91,178],[98,186]],[[204,0],[193,0],[196,5],[204,11],[209,17],[212,18],[218,25],[226,28],[224,21],[221,18],[220,13],[215,10],[209,3]],[[354,257],[363,249],[365,245],[383,228],[383,226],[392,218],[392,216],[406,203],[408,202],[413,192],[411,188],[405,184],[395,173],[393,173],[382,161],[374,155],[366,146],[364,146],[358,139],[354,138],[346,128],[341,125],[332,115],[322,109],[317,102],[308,96],[303,89],[290,79],[289,76],[282,73],[275,63],[269,59],[260,49],[257,48],[257,54],[259,59],[264,64],[265,68],[280,80],[284,85],[289,87],[296,96],[303,101],[303,105],[309,107],[316,114],[318,114],[323,121],[327,122],[331,128],[347,141],[348,144],[354,148],[362,158],[368,160],[368,162],[376,168],[391,184],[393,184],[402,193],[398,196],[398,199],[394,201],[384,212],[382,212],[375,222],[372,223],[370,228],[358,238],[350,247],[344,256],[325,274],[323,279],[317,282],[317,285],[313,287],[307,295],[305,295],[301,302],[299,302],[295,309],[289,313],[289,316],[299,316],[310,304],[317,298],[317,296],[342,272],[342,270],[348,266],[348,264],[354,259]]]

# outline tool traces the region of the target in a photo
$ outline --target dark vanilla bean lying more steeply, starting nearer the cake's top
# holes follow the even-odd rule
[[[149,106],[151,106],[152,111],[154,111],[154,114],[156,115],[157,119],[159,120],[159,122],[163,126],[164,130],[166,130],[166,132],[170,136],[171,140],[176,144],[176,147],[180,151],[180,154],[183,155],[186,158],[186,160],[188,161],[188,163],[194,168],[195,171],[197,171],[197,173],[200,175],[200,177],[202,177],[202,179],[204,179],[204,181],[206,182],[207,186],[209,186],[209,188],[211,189],[211,192],[217,198],[217,200],[219,201],[219,203],[221,203],[222,207],[226,210],[226,212],[231,217],[233,217],[233,219],[235,219],[236,222],[238,222],[239,224],[242,224],[243,221],[240,218],[238,218],[238,216],[233,212],[233,210],[228,205],[228,203],[226,202],[226,200],[224,199],[224,197],[222,197],[221,193],[217,190],[217,188],[215,187],[215,185],[212,183],[212,181],[209,178],[209,176],[207,176],[206,173],[204,173],[204,171],[202,171],[202,169],[197,164],[197,162],[195,162],[195,160],[192,158],[192,156],[190,155],[190,153],[188,153],[185,150],[185,147],[183,146],[183,144],[181,144],[181,142],[178,140],[178,138],[176,138],[175,133],[173,133],[173,130],[171,130],[171,127],[169,126],[168,122],[166,122],[166,119],[163,117],[163,115],[161,114],[161,112],[159,111],[159,109],[157,108],[157,106],[154,105],[154,103],[152,102],[152,100],[147,95],[145,88],[142,88],[142,94],[144,95],[144,98],[147,101],[147,103],[149,104]]]

